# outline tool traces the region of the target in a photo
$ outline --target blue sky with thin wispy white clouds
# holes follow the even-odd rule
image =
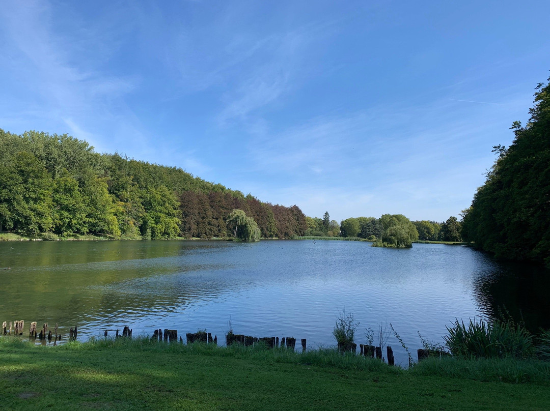
[[[550,75],[550,2],[0,0],[0,128],[310,216],[468,207]]]

